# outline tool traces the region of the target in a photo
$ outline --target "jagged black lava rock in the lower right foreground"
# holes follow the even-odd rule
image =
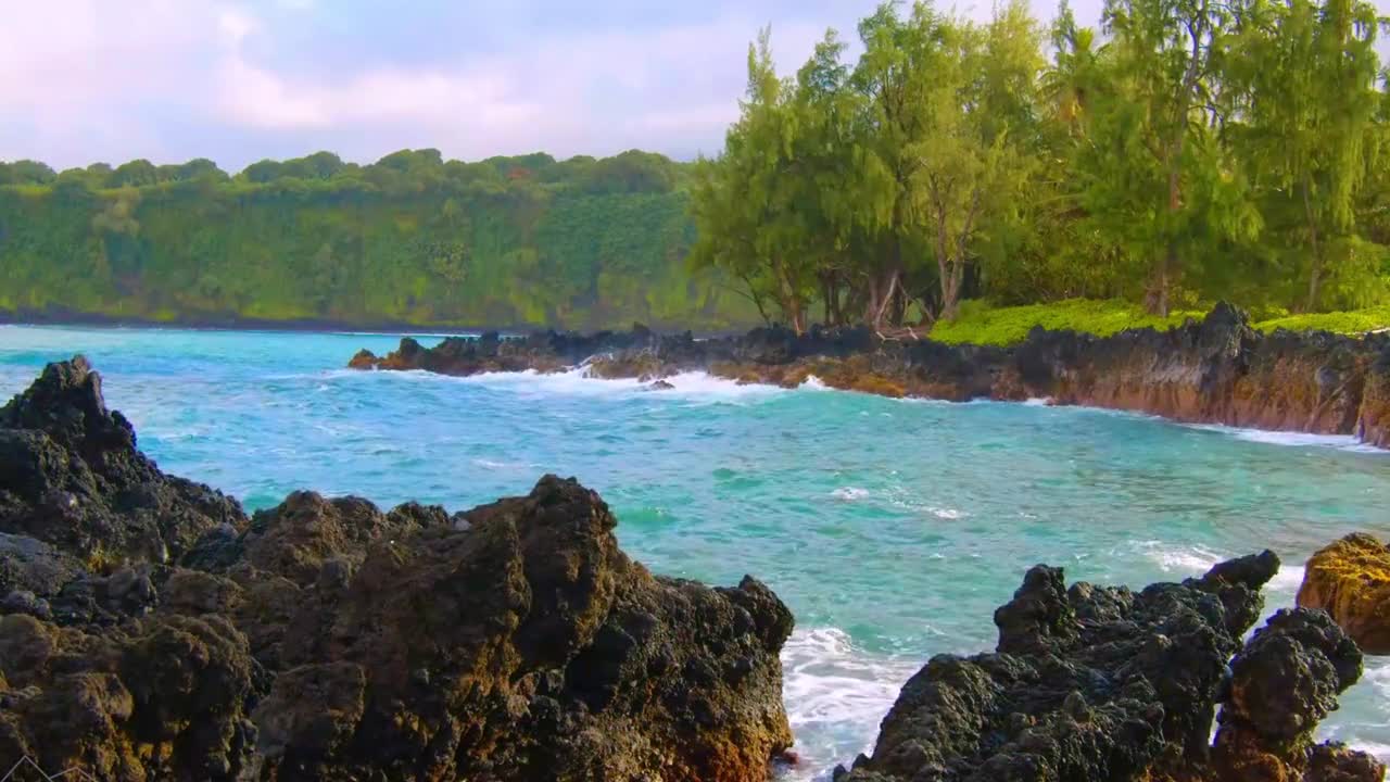
[[[997,651],[934,657],[873,756],[835,779],[1379,781],[1369,756],[1312,746],[1361,675],[1361,653],[1325,614],[1276,614],[1241,648],[1277,569],[1266,551],[1131,593],[1068,587],[1040,565],[995,612]]]

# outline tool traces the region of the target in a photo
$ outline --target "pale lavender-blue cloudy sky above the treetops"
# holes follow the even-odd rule
[[[723,145],[759,28],[791,72],[874,1],[0,0],[0,160],[689,159]]]

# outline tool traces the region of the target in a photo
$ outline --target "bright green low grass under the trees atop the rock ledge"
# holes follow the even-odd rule
[[[1066,299],[1061,302],[992,308],[983,301],[963,302],[955,320],[941,321],[931,330],[931,338],[951,345],[1016,345],[1034,326],[1048,330],[1072,330],[1108,337],[1126,328],[1173,328],[1188,317],[1201,319],[1207,310],[1173,312],[1156,317],[1144,308],[1123,301]],[[1319,314],[1295,314],[1262,320],[1252,324],[1261,331],[1289,328],[1293,331],[1333,331],[1361,334],[1390,327],[1390,305]]]

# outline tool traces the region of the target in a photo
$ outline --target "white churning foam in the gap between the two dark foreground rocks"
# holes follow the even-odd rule
[[[783,647],[783,700],[801,763],[784,781],[827,779],[873,749],[878,722],[920,660],[869,654],[834,628],[798,629]]]

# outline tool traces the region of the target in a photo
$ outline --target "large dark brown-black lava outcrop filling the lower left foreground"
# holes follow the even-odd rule
[[[653,576],[573,479],[246,519],[140,455],[82,359],[0,444],[0,769],[744,782],[791,744],[785,605]]]

